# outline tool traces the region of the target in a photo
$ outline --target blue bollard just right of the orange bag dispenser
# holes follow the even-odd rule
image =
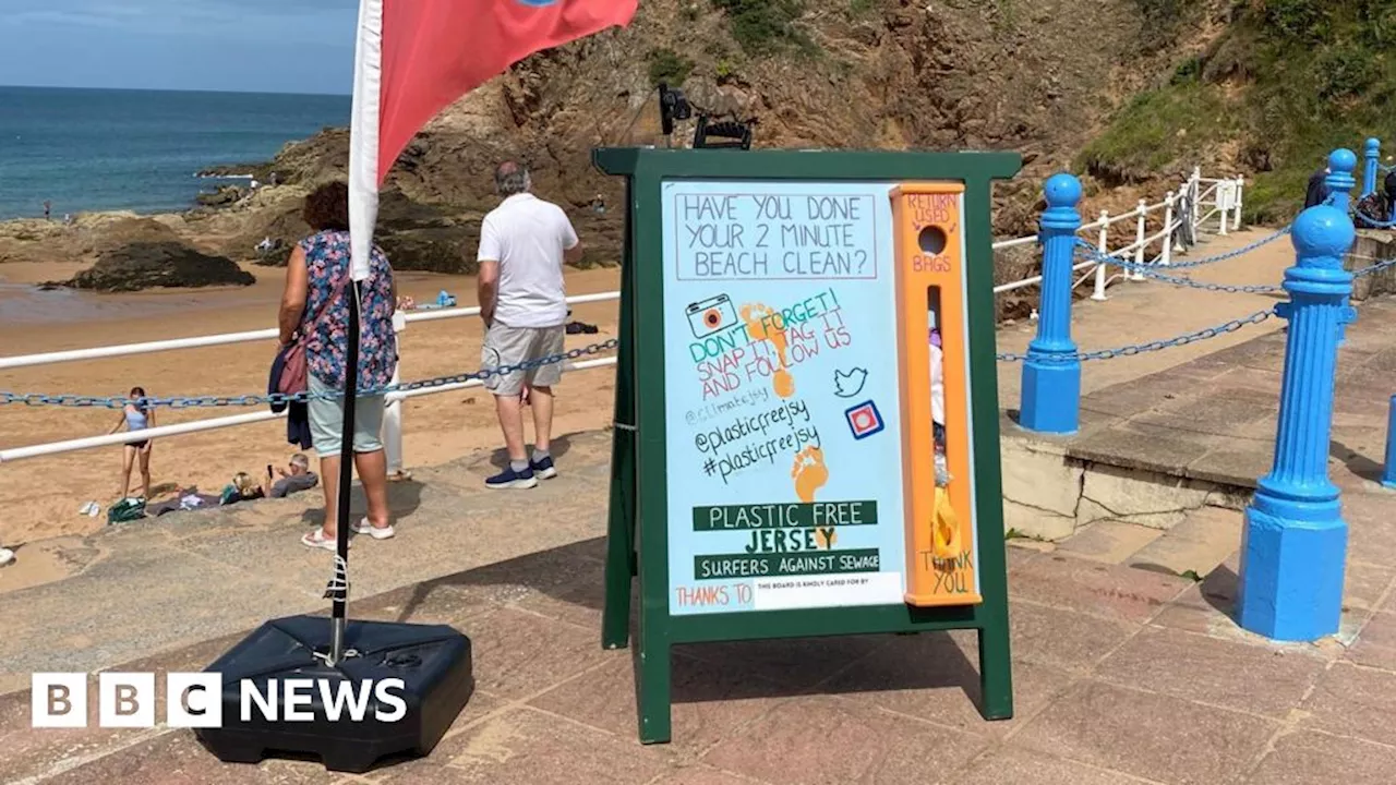
[[[1018,425],[1041,433],[1076,433],[1081,409],[1081,360],[1071,341],[1071,263],[1081,229],[1081,180],[1053,175],[1043,189],[1043,285],[1037,337],[1023,360],[1023,397]]]

